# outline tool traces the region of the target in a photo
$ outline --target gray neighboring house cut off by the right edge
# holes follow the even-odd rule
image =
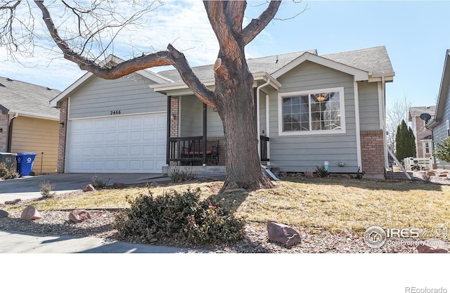
[[[450,136],[450,49],[445,53],[444,70],[437,98],[435,117],[426,126],[432,130],[435,149],[437,143],[442,143],[445,138]],[[435,158],[435,164],[438,168],[450,169],[450,162],[444,162]]]

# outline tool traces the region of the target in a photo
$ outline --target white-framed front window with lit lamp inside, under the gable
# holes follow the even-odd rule
[[[281,93],[281,135],[343,131],[343,89]]]

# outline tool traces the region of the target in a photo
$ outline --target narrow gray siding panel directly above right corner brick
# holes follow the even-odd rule
[[[378,83],[359,82],[359,125],[361,131],[380,130]]]

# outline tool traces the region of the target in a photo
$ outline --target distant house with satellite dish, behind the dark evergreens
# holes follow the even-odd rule
[[[430,115],[429,117],[434,117],[435,111],[436,106],[409,108],[408,121],[411,122],[411,129],[416,138],[416,157],[432,157],[432,131],[425,127],[428,120],[421,118],[420,115],[425,113]]]

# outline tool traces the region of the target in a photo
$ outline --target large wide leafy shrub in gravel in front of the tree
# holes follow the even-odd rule
[[[144,243],[158,240],[204,245],[236,242],[243,237],[245,221],[210,200],[200,200],[200,189],[175,190],[153,197],[129,200],[131,208],[116,217],[114,228],[122,239]]]

